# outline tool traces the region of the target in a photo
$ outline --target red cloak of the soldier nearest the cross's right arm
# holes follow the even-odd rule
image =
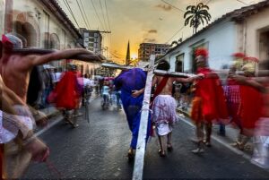
[[[204,120],[228,119],[227,105],[219,76],[207,67],[199,68],[197,73],[204,74],[204,79],[197,81],[195,90],[195,96],[202,99]],[[209,73],[210,76],[207,76]]]

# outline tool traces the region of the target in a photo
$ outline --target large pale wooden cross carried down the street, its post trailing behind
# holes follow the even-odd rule
[[[138,140],[136,145],[135,159],[134,159],[134,172],[133,172],[133,180],[142,180],[143,179],[143,161],[144,161],[144,153],[146,147],[146,137],[147,137],[147,129],[148,129],[148,117],[149,117],[149,109],[150,109],[150,99],[151,99],[151,91],[152,91],[152,78],[154,74],[159,75],[169,75],[169,76],[177,76],[177,77],[194,77],[195,74],[192,73],[176,73],[176,72],[167,72],[161,70],[154,70],[154,61],[155,55],[152,55],[150,58],[150,64],[147,68],[142,68],[147,72],[145,90],[143,94],[143,107],[139,125],[139,133]],[[118,64],[102,64],[104,67],[115,68],[115,69],[132,69],[133,66],[125,66]]]

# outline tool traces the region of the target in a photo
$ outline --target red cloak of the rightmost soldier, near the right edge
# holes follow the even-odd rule
[[[240,85],[241,105],[239,107],[239,116],[243,128],[255,128],[256,121],[261,116],[262,94],[256,89]]]

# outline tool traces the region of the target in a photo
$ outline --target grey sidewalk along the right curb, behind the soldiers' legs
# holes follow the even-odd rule
[[[184,118],[185,120],[187,120],[187,122],[193,124],[192,120],[190,119],[190,110],[191,110],[191,107],[188,107],[187,110],[182,110],[179,107],[177,108],[178,115]],[[221,135],[220,125],[213,124],[213,133],[212,133],[213,139],[217,139],[224,142],[227,145],[227,147],[239,153],[240,150],[230,145],[231,143],[235,142],[238,139],[238,134],[239,134],[239,129],[236,129],[235,127],[232,127],[230,124],[228,124],[228,125],[225,125],[225,135]],[[252,140],[247,142],[247,146],[249,147],[249,150],[241,151],[241,153],[246,153],[248,156],[251,156],[252,151],[253,151]]]

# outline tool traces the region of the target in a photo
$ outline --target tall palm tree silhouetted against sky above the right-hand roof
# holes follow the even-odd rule
[[[209,7],[203,3],[188,5],[186,10],[187,12],[184,13],[185,26],[189,24],[190,27],[193,27],[193,34],[197,32],[201,22],[204,25],[204,21],[208,24],[211,20],[211,15],[208,13]]]

